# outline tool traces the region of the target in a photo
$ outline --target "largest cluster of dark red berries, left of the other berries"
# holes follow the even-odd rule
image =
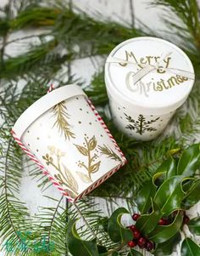
[[[140,214],[133,214],[132,215],[132,219],[133,220],[137,220],[141,217]],[[136,225],[131,225],[129,226],[129,229],[132,231],[133,233],[133,240],[128,242],[128,247],[136,247],[136,245],[138,245],[140,248],[146,248],[147,251],[152,251],[154,244],[151,241],[147,240],[147,237],[142,236],[141,232],[139,230],[136,229]]]

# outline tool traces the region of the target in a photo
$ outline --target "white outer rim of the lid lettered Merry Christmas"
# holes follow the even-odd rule
[[[128,39],[128,40],[125,40],[124,42],[122,43],[119,43],[111,52],[110,54],[108,54],[108,58],[109,57],[113,57],[114,54],[119,50],[119,48],[122,48],[123,46],[125,46],[125,44],[127,43],[131,43],[131,42],[136,42],[136,41],[156,41],[156,42],[162,42],[164,44],[168,44],[170,47],[173,47],[175,48],[175,50],[177,52],[179,52],[180,54],[183,55],[183,57],[186,59],[186,62],[188,64],[188,67],[190,69],[190,71],[192,73],[194,73],[194,68],[193,68],[193,65],[192,65],[192,61],[189,59],[189,57],[184,53],[183,50],[181,50],[181,48],[179,48],[178,46],[176,46],[174,43],[170,43],[169,41],[166,41],[164,39],[161,39],[161,38],[158,38],[158,37],[133,37],[131,39]],[[113,95],[114,97],[116,97],[117,99],[119,99],[120,101],[122,101],[122,104],[129,104],[131,105],[132,107],[134,107],[134,109],[136,110],[138,108],[139,111],[143,110],[143,111],[147,111],[147,113],[152,113],[152,112],[156,112],[157,114],[163,114],[163,113],[167,113],[169,111],[175,111],[177,108],[179,108],[185,101],[186,101],[186,98],[187,96],[190,94],[191,90],[192,90],[192,87],[193,87],[193,84],[194,84],[194,81],[195,80],[191,80],[190,82],[190,89],[188,91],[187,94],[184,95],[184,97],[182,97],[181,100],[178,100],[178,101],[175,101],[175,102],[172,102],[171,104],[169,105],[158,105],[156,104],[156,102],[153,104],[153,105],[145,105],[145,104],[142,104],[142,103],[138,103],[136,101],[134,101],[133,99],[131,99],[131,97],[129,97],[129,95],[125,95],[122,91],[119,91],[118,88],[116,88],[114,86],[114,83],[112,82],[112,79],[110,77],[110,74],[109,74],[109,65],[110,63],[105,63],[105,67],[104,67],[104,74],[105,74],[105,77],[104,77],[104,81],[105,81],[105,84],[106,84],[106,88],[108,90],[108,94],[110,95]]]

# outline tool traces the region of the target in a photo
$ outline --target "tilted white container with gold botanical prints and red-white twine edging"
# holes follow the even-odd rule
[[[92,102],[76,85],[37,100],[15,122],[12,133],[70,201],[92,191],[126,162]]]

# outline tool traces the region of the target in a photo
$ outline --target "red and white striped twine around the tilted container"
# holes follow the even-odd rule
[[[50,85],[50,87],[47,90],[47,93],[50,93],[53,91],[53,83]],[[49,174],[49,172],[47,171],[47,169],[42,165],[41,162],[39,162],[36,159],[36,156],[34,156],[31,151],[29,151],[25,145],[22,143],[22,141],[17,137],[17,135],[14,133],[14,130],[11,131],[11,134],[13,134],[15,141],[18,143],[19,147],[25,151],[25,153],[31,158],[31,160],[33,162],[36,162],[36,164],[39,166],[39,168],[42,169],[43,174],[47,175],[48,179],[51,180],[51,182],[53,183],[53,185],[57,186],[58,190],[61,191],[61,193],[66,196],[69,200],[69,202],[75,202],[78,199],[80,199],[82,196],[86,196],[86,194],[88,194],[89,192],[93,191],[97,186],[101,185],[106,179],[108,179],[110,176],[112,176],[114,173],[116,173],[119,168],[121,168],[122,166],[125,165],[125,163],[127,162],[123,152],[119,149],[119,145],[117,145],[117,142],[115,141],[114,137],[112,134],[110,134],[110,131],[108,130],[108,127],[106,126],[105,122],[103,122],[103,118],[98,114],[96,108],[94,107],[94,105],[92,105],[92,101],[91,100],[87,100],[87,103],[90,105],[92,111],[94,112],[95,116],[97,117],[97,120],[101,123],[101,125],[103,126],[104,130],[106,131],[106,133],[108,134],[109,138],[113,141],[114,146],[116,148],[117,151],[119,151],[119,154],[122,158],[122,162],[116,167],[114,168],[111,172],[109,172],[108,174],[105,174],[101,179],[98,179],[94,184],[92,184],[89,188],[86,189],[86,191],[83,191],[81,193],[81,195],[77,196],[75,199],[70,197],[69,194],[64,191],[64,188],[61,187],[61,185],[59,185],[59,183],[56,181],[56,179],[53,178],[53,176],[51,174]]]

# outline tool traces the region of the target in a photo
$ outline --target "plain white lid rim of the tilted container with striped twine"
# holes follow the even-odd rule
[[[59,102],[78,95],[86,96],[80,86],[75,84],[68,84],[54,89],[49,94],[45,94],[21,114],[18,120],[14,123],[14,133],[20,139],[26,128],[28,128],[32,122],[36,121],[36,119],[44,112]]]

